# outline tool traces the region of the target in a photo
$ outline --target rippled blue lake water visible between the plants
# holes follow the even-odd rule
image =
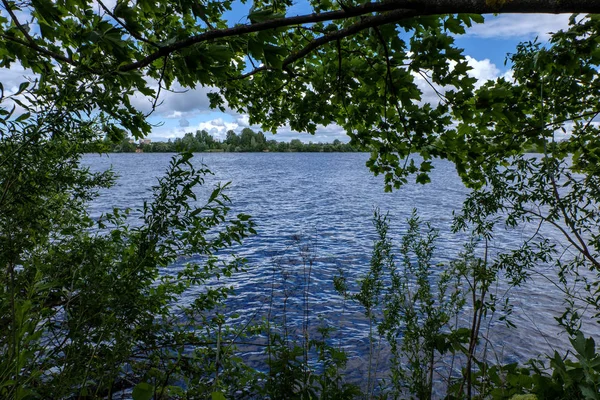
[[[83,163],[92,170],[112,166],[119,175],[116,186],[91,204],[92,215],[97,217],[112,207],[141,206],[150,198],[151,186],[165,171],[171,157],[170,154],[85,156]],[[333,289],[332,278],[339,268],[351,281],[368,269],[375,240],[371,221],[374,208],[389,212],[390,233],[396,247],[406,232],[406,219],[416,208],[423,221],[440,230],[436,261],[448,262],[457,256],[467,235],[450,233],[452,213],[460,208],[468,190],[452,164],[435,162],[430,184],[411,183],[393,193],[384,193],[383,179],[374,177],[365,167],[367,158],[363,153],[195,155],[194,163],[204,163],[214,173],[207,178],[206,192],[210,193],[216,182],[230,181],[232,211],[250,214],[256,222],[257,235],[236,249],[248,259],[248,271],[228,281],[237,293],[229,304],[232,310],[243,318],[251,318],[266,313],[272,294],[276,303],[280,301],[279,306],[288,295],[290,320],[300,324],[301,283],[305,273],[302,256],[307,253],[298,248],[308,246],[313,260],[308,291],[311,315],[341,326],[344,346],[360,360],[367,343],[367,323],[362,310],[344,306]],[[132,216],[135,218],[136,213]],[[497,251],[514,248],[534,228],[498,231],[492,248]],[[553,235],[550,231],[544,233]],[[285,284],[282,272],[287,279]],[[552,274],[547,266],[540,266],[537,272]],[[565,348],[567,338],[559,335],[561,330],[554,321],[562,313],[562,298],[543,277],[535,275],[532,281],[508,292],[505,284],[495,290],[498,296],[510,296],[514,305],[511,321],[518,326],[509,329],[501,322],[492,322],[489,337],[500,361],[524,361],[550,353],[553,348]]]

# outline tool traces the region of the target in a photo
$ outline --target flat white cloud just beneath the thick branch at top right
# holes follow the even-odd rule
[[[569,25],[568,14],[502,14],[485,17],[485,23],[467,29],[467,35],[498,39],[547,40],[549,34]]]

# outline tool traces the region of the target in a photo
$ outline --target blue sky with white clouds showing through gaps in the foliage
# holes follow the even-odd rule
[[[106,1],[109,4],[113,2],[116,3],[116,0]],[[249,3],[237,3],[233,10],[227,13],[227,19],[232,25],[247,23],[245,15],[249,8]],[[306,3],[299,1],[290,9],[288,15],[309,12],[310,9]],[[536,37],[544,41],[548,38],[549,32],[566,28],[568,19],[569,15],[555,14],[487,15],[484,24],[474,25],[467,30],[466,35],[458,36],[456,44],[465,50],[464,53],[468,56],[469,64],[473,68],[472,75],[483,82],[510,74],[510,66],[505,66],[504,61],[507,53],[514,52],[519,42],[533,40]],[[5,89],[10,90],[11,86],[18,87],[18,84],[23,81],[24,75],[29,74],[22,67],[14,65],[10,69],[0,70],[0,81],[4,84]],[[418,83],[419,88],[423,91],[423,98],[432,102],[436,101],[436,96],[431,88],[424,81]],[[182,88],[175,86],[173,89],[180,91]],[[237,132],[245,127],[260,129],[257,126],[249,126],[247,115],[233,111],[222,113],[211,110],[206,94],[213,90],[212,88],[198,87],[184,93],[163,91],[160,99],[162,105],[150,117],[150,122],[155,124],[155,127],[149,138],[153,141],[168,140],[181,137],[186,132],[205,129],[214,137],[223,139],[229,129]],[[150,109],[151,101],[149,99],[136,96],[132,101],[142,111]],[[343,130],[335,125],[319,127],[314,136],[293,132],[289,127],[281,127],[277,135],[268,134],[267,137],[281,141],[298,138],[304,142],[348,140]]]

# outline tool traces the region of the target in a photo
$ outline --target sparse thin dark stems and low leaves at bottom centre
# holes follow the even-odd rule
[[[294,235],[290,250],[297,257],[275,261],[265,325],[268,372],[257,393],[272,399],[357,398],[361,391],[344,376],[346,352],[333,342],[337,328],[312,311],[314,239]]]

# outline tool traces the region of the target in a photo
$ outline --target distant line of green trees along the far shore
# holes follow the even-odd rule
[[[109,140],[103,143],[95,143],[90,151],[98,151],[96,145],[100,145],[102,151],[110,153],[133,153],[136,150],[144,153],[170,153],[170,152],[357,152],[362,151],[359,147],[348,143],[342,143],[336,139],[333,143],[302,143],[293,139],[289,143],[267,140],[264,133],[254,132],[250,128],[244,128],[238,135],[234,131],[227,132],[224,141],[212,137],[205,130],[196,133],[186,133],[185,136],[167,142],[136,143],[129,138],[119,143]]]

